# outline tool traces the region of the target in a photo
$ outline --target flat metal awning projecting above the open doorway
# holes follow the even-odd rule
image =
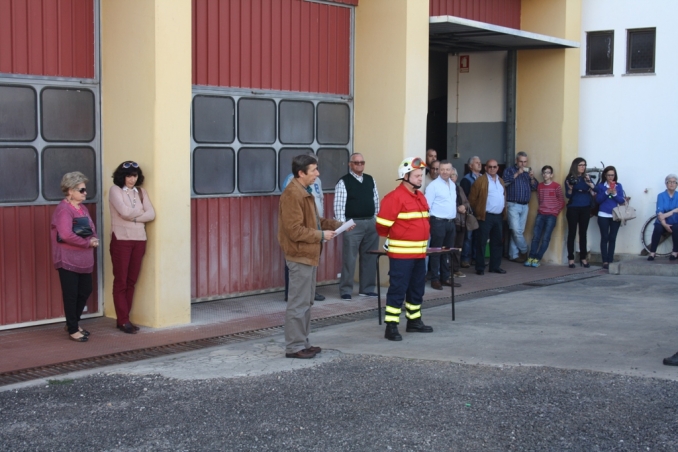
[[[579,43],[455,16],[429,18],[429,47],[444,52],[577,48]]]

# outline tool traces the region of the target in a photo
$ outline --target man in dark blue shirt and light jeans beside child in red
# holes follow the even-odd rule
[[[506,207],[511,230],[509,260],[512,262],[523,263],[527,260],[527,241],[523,233],[527,223],[530,197],[532,192],[537,190],[537,185],[532,169],[527,166],[527,154],[518,152],[516,164],[504,171]]]

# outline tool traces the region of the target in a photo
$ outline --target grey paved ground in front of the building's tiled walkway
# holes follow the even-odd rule
[[[0,392],[0,450],[678,450],[675,278],[425,309],[433,334],[321,328]]]

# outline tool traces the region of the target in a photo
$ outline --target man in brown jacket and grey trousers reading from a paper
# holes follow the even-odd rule
[[[308,359],[321,351],[308,340],[320,250],[323,242],[334,238],[341,222],[321,218],[316,209],[310,187],[320,173],[314,157],[294,157],[292,174],[294,179],[280,196],[278,209],[278,242],[290,271],[285,356]]]

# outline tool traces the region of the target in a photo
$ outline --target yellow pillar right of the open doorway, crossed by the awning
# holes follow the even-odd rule
[[[581,0],[523,0],[521,29],[579,41]],[[553,166],[554,179],[563,184],[577,157],[579,139],[579,49],[518,52],[516,151],[529,155],[539,174]],[[540,179],[541,180],[541,179]],[[536,197],[530,204],[526,237],[532,236]],[[544,256],[545,262],[563,262],[565,213],[561,213]]]

